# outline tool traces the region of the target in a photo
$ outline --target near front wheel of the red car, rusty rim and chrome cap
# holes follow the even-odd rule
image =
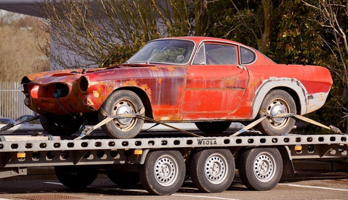
[[[118,90],[111,93],[99,109],[99,121],[105,119],[104,114],[116,115],[136,113],[143,108],[143,102],[134,92]],[[105,113],[104,113],[105,112]],[[134,138],[141,130],[144,120],[139,117],[113,119],[102,126],[104,133],[113,139]]]

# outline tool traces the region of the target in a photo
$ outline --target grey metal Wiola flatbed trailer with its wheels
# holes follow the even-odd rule
[[[169,195],[185,177],[202,192],[226,190],[238,169],[251,190],[270,190],[295,159],[348,158],[348,135],[205,136],[136,139],[62,139],[0,136],[0,178],[26,175],[27,167],[54,166],[71,188],[90,185],[100,170],[119,185],[142,183]],[[309,166],[310,168],[310,166]]]

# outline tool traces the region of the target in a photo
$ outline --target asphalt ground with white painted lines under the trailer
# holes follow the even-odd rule
[[[32,179],[32,180],[30,180]],[[105,175],[99,175],[88,188],[73,191],[61,185],[54,176],[42,177],[26,176],[0,180],[0,200],[27,199],[27,200],[282,200],[282,199],[348,199],[347,172],[304,172],[298,175],[283,178],[270,191],[250,191],[240,181],[238,176],[230,188],[222,193],[200,193],[187,181],[178,192],[170,196],[150,195],[139,184],[134,187],[120,188],[112,183]]]

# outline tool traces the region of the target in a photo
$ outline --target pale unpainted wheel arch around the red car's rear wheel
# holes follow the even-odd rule
[[[296,114],[306,114],[308,103],[308,92],[303,84],[293,78],[273,78],[264,80],[259,88],[255,91],[255,96],[252,103],[251,119],[255,119],[261,107],[263,99],[269,91],[281,89],[290,94],[296,104]],[[298,107],[298,108],[297,108]]]

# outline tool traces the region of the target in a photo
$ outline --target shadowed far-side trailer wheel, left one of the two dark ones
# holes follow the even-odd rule
[[[82,189],[94,182],[98,169],[79,168],[75,166],[55,166],[58,180],[73,189]]]

